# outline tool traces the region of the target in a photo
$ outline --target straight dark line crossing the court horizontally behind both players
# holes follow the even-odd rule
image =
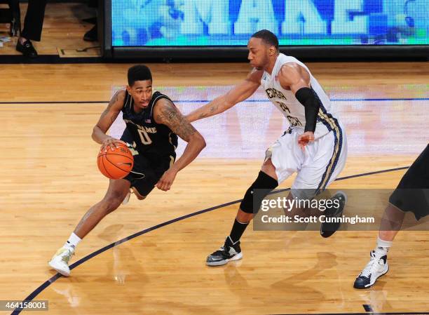
[[[429,100],[429,98],[332,98],[331,102],[400,102],[413,100]],[[175,103],[205,103],[211,100],[173,100]],[[37,101],[37,102],[0,102],[0,105],[25,105],[25,104],[104,104],[108,100],[88,101]],[[270,100],[243,100],[243,102],[270,102]]]

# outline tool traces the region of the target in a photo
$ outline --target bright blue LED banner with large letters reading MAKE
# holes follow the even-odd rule
[[[429,0],[111,0],[112,47],[429,44]]]

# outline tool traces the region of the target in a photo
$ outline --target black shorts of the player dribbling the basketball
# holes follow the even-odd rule
[[[165,170],[175,162],[175,156],[149,157],[136,153],[137,151],[133,149],[134,166],[131,173],[123,179],[128,180],[131,187],[137,189],[142,197],[146,197],[154,189]]]

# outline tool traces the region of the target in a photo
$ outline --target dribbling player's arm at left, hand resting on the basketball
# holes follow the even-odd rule
[[[125,99],[125,91],[121,90],[115,93],[111,98],[109,105],[102,112],[100,119],[98,119],[97,124],[93,128],[92,138],[95,142],[100,143],[102,150],[107,151],[109,147],[114,149],[115,142],[122,142],[121,140],[112,138],[107,135],[107,130],[109,130],[111,124],[115,121],[119,112],[123,107],[123,100]]]

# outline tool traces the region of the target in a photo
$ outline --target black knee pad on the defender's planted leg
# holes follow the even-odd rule
[[[255,209],[259,210],[262,200],[266,195],[269,194],[269,192],[271,192],[271,190],[277,186],[277,180],[269,175],[266,175],[266,173],[259,171],[257,179],[253,182],[249,189],[247,189],[243,201],[240,203],[240,209],[245,213],[253,213],[253,206],[255,206]],[[261,189],[258,191],[258,199],[255,200],[255,205],[253,205],[253,189]]]

